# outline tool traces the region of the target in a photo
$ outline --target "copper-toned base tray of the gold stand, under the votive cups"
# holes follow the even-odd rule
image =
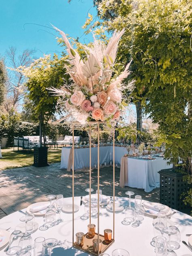
[[[76,242],[73,244],[73,246],[78,248],[79,250],[81,250],[83,252],[87,252],[87,253],[92,254],[92,255],[98,255],[97,252],[93,251],[93,239],[95,239],[95,238],[96,239],[98,238],[98,234],[97,233],[95,234],[95,236],[93,238],[89,238],[88,237],[88,233],[86,233],[84,235],[84,244],[83,244],[83,246],[81,247],[81,246],[77,245]],[[112,239],[110,243],[106,243],[103,235],[99,235],[99,238],[102,241],[101,252],[99,254],[105,252],[109,248],[109,246],[112,243],[114,243],[114,241],[115,241],[115,240]]]

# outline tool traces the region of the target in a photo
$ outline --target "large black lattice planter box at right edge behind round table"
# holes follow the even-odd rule
[[[175,210],[188,212],[191,207],[183,203],[183,192],[187,192],[191,185],[183,181],[183,174],[177,173],[173,169],[163,169],[160,174],[160,203]]]

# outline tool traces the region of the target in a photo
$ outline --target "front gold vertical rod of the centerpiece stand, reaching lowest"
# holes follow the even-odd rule
[[[99,122],[97,123],[97,152],[98,152],[98,156],[97,156],[97,213],[98,213],[98,218],[97,218],[97,226],[98,226],[98,256],[99,256],[99,166],[100,166],[100,162],[99,162]]]

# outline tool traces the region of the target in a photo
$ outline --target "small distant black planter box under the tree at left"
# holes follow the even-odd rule
[[[48,166],[47,164],[47,147],[34,147],[34,164],[35,167]]]

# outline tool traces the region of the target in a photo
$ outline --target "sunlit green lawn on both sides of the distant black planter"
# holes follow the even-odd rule
[[[29,151],[13,151],[13,147],[1,149],[2,157],[0,159],[0,170],[13,169],[19,167],[30,166],[33,164],[33,150]],[[61,147],[58,149],[48,149],[48,163],[56,163],[61,161]]]

